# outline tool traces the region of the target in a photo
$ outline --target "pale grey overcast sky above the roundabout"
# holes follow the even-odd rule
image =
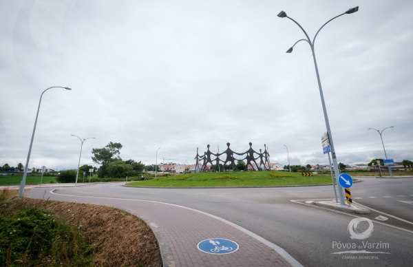
[[[154,164],[269,147],[326,164],[313,38],[337,160],[413,160],[412,1],[0,1],[0,164],[92,164],[92,149]],[[97,164],[93,164],[98,166]]]

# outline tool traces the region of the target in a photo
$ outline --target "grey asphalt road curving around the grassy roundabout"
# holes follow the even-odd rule
[[[167,202],[211,213],[281,246],[304,266],[413,266],[413,178],[361,180],[353,184],[352,196],[354,201],[376,210],[370,215],[306,204],[307,200],[331,200],[332,186],[145,189],[112,183],[61,188],[54,192]],[[387,220],[375,219],[379,215]],[[348,224],[356,217],[373,221],[370,237],[350,238]],[[359,224],[360,233],[367,228],[368,222]],[[368,248],[372,243],[376,245]],[[342,248],[339,244],[355,244],[356,248]],[[349,250],[381,253],[332,254]],[[359,256],[370,258],[359,259]]]

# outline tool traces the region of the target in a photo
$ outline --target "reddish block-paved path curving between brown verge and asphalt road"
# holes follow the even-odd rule
[[[301,266],[282,248],[262,237],[193,209],[145,200],[59,195],[59,189],[52,188],[34,188],[25,193],[25,197],[32,198],[43,195],[50,200],[114,206],[141,217],[158,238],[164,266]],[[198,250],[197,244],[209,238],[231,239],[240,248],[226,255]]]

